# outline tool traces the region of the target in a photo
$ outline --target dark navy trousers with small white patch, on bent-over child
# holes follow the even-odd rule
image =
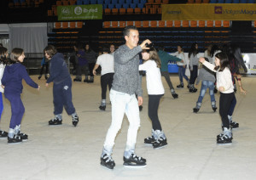
[[[55,105],[55,115],[60,115],[63,107],[67,111],[67,115],[72,115],[75,112],[72,102],[72,81],[68,78],[64,82],[55,84],[53,86],[53,96]]]

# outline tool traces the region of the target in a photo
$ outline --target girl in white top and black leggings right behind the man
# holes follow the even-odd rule
[[[145,138],[144,143],[152,144],[154,149],[167,144],[166,135],[162,131],[158,118],[158,107],[160,98],[164,95],[165,89],[161,81],[160,58],[154,48],[143,51],[143,65],[139,65],[139,70],[146,70],[146,80],[148,89],[148,116],[152,121],[152,136]]]

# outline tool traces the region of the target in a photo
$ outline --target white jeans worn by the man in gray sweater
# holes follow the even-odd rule
[[[112,154],[114,139],[122,126],[124,115],[130,123],[127,132],[125,151],[134,152],[137,141],[137,130],[140,127],[138,102],[135,94],[121,93],[111,89],[109,98],[112,104],[112,122],[108,129],[102,153]]]

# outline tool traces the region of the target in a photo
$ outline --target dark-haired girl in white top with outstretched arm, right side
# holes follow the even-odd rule
[[[209,70],[216,72],[216,86],[220,92],[219,97],[219,115],[224,127],[224,133],[217,136],[217,143],[232,143],[232,132],[228,112],[230,104],[235,98],[232,76],[230,72],[230,62],[226,53],[217,53],[215,55],[215,65],[208,63],[204,58],[200,62]]]

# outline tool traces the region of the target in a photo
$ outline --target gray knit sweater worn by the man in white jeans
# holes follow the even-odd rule
[[[130,49],[125,44],[114,52],[113,90],[143,96],[142,81],[138,70],[140,52],[142,52],[140,46]]]

